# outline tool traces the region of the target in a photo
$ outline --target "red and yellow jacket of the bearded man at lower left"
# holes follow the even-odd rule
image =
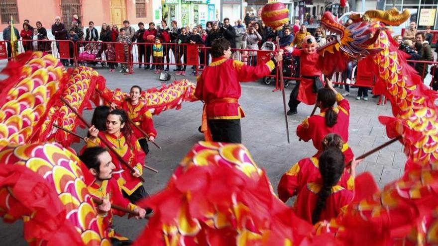
[[[96,198],[108,198],[111,204],[115,204],[123,208],[134,210],[137,207],[136,205],[130,203],[128,199],[123,197],[123,194],[120,191],[120,187],[118,186],[117,181],[114,178],[102,181],[101,185],[94,182],[93,184],[88,186],[88,191],[92,196]],[[105,236],[107,238],[121,238],[114,232],[114,229],[112,228],[112,221],[114,215],[123,216],[124,214],[124,212],[121,212],[119,210],[110,209],[108,214],[99,215],[104,217],[103,223],[106,233]]]

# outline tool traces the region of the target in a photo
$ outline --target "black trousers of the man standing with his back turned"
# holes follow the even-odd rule
[[[209,120],[210,131],[214,142],[242,143],[242,129],[240,119],[237,120]]]

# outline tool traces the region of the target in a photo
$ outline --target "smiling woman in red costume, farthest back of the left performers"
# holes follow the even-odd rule
[[[139,126],[149,138],[146,139],[143,133],[141,133],[136,127],[132,128],[134,132],[134,136],[138,139],[138,143],[140,143],[141,148],[144,153],[147,155],[149,153],[149,146],[147,141],[154,142],[157,137],[157,130],[154,128],[154,122],[152,120],[152,113],[149,111],[147,107],[147,103],[144,100],[140,99],[141,95],[141,87],[138,85],[134,85],[131,87],[129,91],[130,97],[123,101],[114,101],[111,103],[111,108],[115,109],[116,107],[121,107],[128,114],[129,119],[136,126]]]

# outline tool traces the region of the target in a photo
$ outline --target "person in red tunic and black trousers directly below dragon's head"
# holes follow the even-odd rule
[[[303,49],[294,49],[286,47],[286,51],[293,56],[300,57],[300,81],[297,82],[289,96],[288,115],[296,114],[298,104],[304,102],[307,105],[313,105],[316,101],[316,95],[320,88],[324,86],[322,72],[316,68],[319,54],[317,53],[318,44],[314,36],[306,36],[303,39]]]

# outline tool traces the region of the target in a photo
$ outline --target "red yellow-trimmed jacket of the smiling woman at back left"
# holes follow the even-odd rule
[[[130,101],[124,100],[121,107],[126,111],[129,119],[131,119],[135,125],[139,126],[149,136],[157,136],[157,130],[155,130],[152,120],[152,113],[143,100],[139,100],[137,105],[132,105]],[[145,138],[136,127],[131,128],[137,139]]]

